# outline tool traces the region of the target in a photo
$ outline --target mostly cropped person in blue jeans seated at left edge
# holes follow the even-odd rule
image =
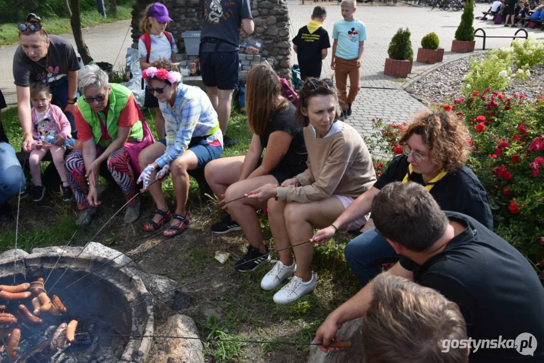
[[[6,107],[4,95],[0,91],[0,223],[13,219],[8,200],[19,192],[20,187],[24,190],[27,183],[15,155],[15,149],[8,143],[2,125],[1,110]]]

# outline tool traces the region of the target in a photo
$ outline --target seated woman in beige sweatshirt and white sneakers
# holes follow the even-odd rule
[[[249,198],[268,200],[268,219],[276,249],[308,241],[313,228],[330,225],[354,199],[376,181],[372,158],[355,129],[338,121],[337,93],[332,81],[307,79],[300,91],[295,117],[304,126],[308,168],[281,186],[267,184]],[[348,230],[357,230],[367,216]],[[311,269],[313,245],[280,251],[280,261],[261,281],[273,290],[290,274],[295,276],[274,295],[277,304],[290,304],[316,288]]]

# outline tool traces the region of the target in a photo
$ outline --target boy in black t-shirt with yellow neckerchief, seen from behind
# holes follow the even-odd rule
[[[293,49],[298,58],[302,80],[321,76],[322,60],[327,57],[327,48],[331,47],[329,33],[322,27],[326,16],[324,7],[315,7],[312,21],[300,28],[293,38]]]

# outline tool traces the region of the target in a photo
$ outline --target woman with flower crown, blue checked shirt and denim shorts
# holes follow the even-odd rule
[[[157,210],[144,224],[145,231],[156,231],[170,222],[164,236],[174,236],[189,225],[186,210],[190,170],[203,168],[223,151],[223,137],[217,113],[208,96],[199,87],[181,83],[179,69],[166,60],[154,61],[142,71],[146,91],[159,100],[164,115],[166,139],[150,145],[139,155],[143,170],[138,183],[149,189]],[[176,210],[166,204],[160,182],[172,174]],[[154,183],[158,181],[159,183]]]

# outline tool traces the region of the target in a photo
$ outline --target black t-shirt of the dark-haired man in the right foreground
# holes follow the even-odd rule
[[[434,288],[459,305],[473,340],[501,336],[502,341],[515,341],[530,333],[531,343],[537,344],[534,356],[514,348],[472,346],[471,363],[544,362],[544,288],[535,270],[517,249],[474,218],[445,213],[466,226],[465,231],[421,266],[404,256],[401,266],[413,272],[419,285]]]

